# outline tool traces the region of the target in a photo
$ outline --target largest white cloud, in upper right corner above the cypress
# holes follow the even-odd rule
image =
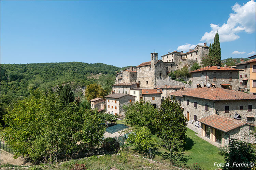
[[[218,31],[219,41],[227,42],[240,38],[237,33],[245,31],[246,33],[255,32],[256,24],[256,3],[254,1],[248,1],[243,6],[238,3],[231,6],[234,13],[229,14],[227,23],[222,26],[211,23],[212,31],[205,32],[200,41],[206,41],[208,43],[213,42],[214,36]]]

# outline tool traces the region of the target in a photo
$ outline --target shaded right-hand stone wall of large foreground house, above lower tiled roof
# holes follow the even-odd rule
[[[252,111],[248,112],[248,105],[252,105]],[[229,113],[225,113],[225,106],[229,106]],[[243,106],[243,110],[240,110],[240,106]],[[214,103],[214,108],[220,116],[233,118],[235,113],[238,113],[242,117],[243,122],[247,122],[246,116],[254,116],[256,114],[255,100],[224,100]]]

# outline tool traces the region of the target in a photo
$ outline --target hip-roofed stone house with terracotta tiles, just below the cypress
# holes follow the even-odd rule
[[[192,77],[192,88],[201,87],[206,84],[214,84],[216,87],[226,88],[230,90],[239,89],[239,71],[241,69],[207,66],[194,71],[190,71]]]

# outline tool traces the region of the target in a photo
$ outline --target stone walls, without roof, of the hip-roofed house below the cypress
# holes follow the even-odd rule
[[[216,72],[216,73],[214,73]],[[230,73],[231,72],[231,73]],[[216,77],[216,81],[213,81],[213,77]],[[229,81],[229,77],[232,77],[232,81]],[[238,71],[234,70],[211,70],[211,71],[200,71],[192,73],[192,88],[197,88],[197,84],[214,83],[216,87],[222,88],[221,84],[230,84],[232,90],[238,90],[239,88],[239,78]]]

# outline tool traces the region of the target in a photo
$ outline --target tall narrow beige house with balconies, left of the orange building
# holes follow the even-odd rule
[[[239,71],[239,90],[240,91],[248,91],[250,90],[250,63],[248,61],[244,61],[242,58],[241,62],[236,64],[236,69],[240,69]],[[250,61],[250,60],[249,60]],[[234,67],[233,67],[234,68]]]

